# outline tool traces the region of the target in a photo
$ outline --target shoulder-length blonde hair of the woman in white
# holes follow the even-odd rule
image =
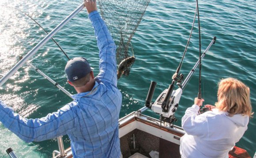
[[[222,79],[218,83],[218,102],[215,106],[220,111],[228,112],[230,117],[234,114],[252,117],[250,89],[235,78]]]

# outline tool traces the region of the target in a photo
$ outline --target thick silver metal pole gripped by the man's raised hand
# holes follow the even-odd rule
[[[83,8],[84,4],[79,5],[67,18],[65,18],[58,26],[55,27],[44,39],[42,39],[31,51],[29,51],[23,59],[21,59],[8,73],[0,79],[0,86],[4,83],[17,71],[20,67],[23,66],[41,47],[45,45],[64,25],[66,25],[75,15],[77,15]]]

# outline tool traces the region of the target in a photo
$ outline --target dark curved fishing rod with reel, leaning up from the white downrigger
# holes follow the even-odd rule
[[[176,72],[173,74],[173,77],[172,77],[173,81],[172,81],[171,85],[169,85],[169,88],[168,88],[168,91],[166,93],[166,96],[165,96],[165,98],[164,98],[164,100],[162,102],[162,110],[163,110],[163,112],[167,112],[168,111],[168,105],[169,105],[169,101],[170,101],[169,98],[170,98],[170,96],[171,96],[171,94],[173,92],[175,81],[177,81],[178,83],[181,83],[182,79],[184,77],[184,75],[182,73],[181,74],[179,74],[179,73],[180,73],[180,70],[181,70],[181,66],[182,66],[185,54],[186,54],[186,52],[188,50],[188,45],[189,45],[189,42],[190,42],[190,38],[192,36],[192,32],[193,32],[193,28],[194,28],[195,20],[196,20],[197,9],[198,9],[198,7],[196,6],[196,11],[195,11],[194,19],[193,19],[193,24],[192,24],[192,29],[190,31],[188,42],[187,42],[187,45],[185,47],[184,53],[182,55],[181,62],[179,64],[179,66],[177,67]]]

